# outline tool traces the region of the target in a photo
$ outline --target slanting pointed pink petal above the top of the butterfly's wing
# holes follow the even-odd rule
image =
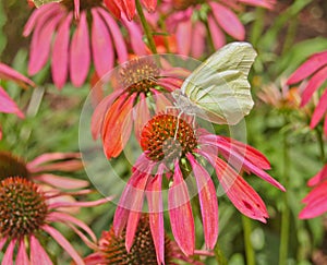
[[[233,38],[244,40],[245,28],[239,17],[231,10],[217,2],[210,1],[209,5],[220,27]]]

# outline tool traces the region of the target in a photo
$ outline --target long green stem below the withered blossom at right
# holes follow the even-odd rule
[[[290,153],[289,153],[288,136],[283,135],[283,185],[289,188],[290,173]],[[279,244],[279,265],[286,265],[289,252],[289,236],[290,236],[290,208],[288,192],[283,194],[282,212],[281,212],[281,229]]]

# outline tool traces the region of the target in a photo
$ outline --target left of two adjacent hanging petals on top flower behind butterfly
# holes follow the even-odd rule
[[[182,56],[189,56],[192,46],[192,21],[182,21],[177,25],[175,37],[178,51]]]

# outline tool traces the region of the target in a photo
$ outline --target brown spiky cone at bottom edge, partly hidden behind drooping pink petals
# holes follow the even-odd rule
[[[165,261],[171,264],[172,250],[170,240],[165,237]],[[116,236],[113,229],[102,233],[100,250],[105,256],[106,264],[110,265],[141,265],[157,264],[156,249],[153,241],[148,216],[143,215],[134,237],[134,243],[130,250],[125,248],[125,230]]]

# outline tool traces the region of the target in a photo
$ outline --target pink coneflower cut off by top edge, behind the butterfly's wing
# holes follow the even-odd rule
[[[211,39],[215,49],[226,44],[225,33],[235,40],[244,40],[245,28],[235,13],[242,11],[243,4],[272,9],[275,2],[275,0],[166,0],[162,12],[168,16],[166,17],[168,31],[177,36],[178,51],[181,55],[199,58],[207,47],[208,38]]]

